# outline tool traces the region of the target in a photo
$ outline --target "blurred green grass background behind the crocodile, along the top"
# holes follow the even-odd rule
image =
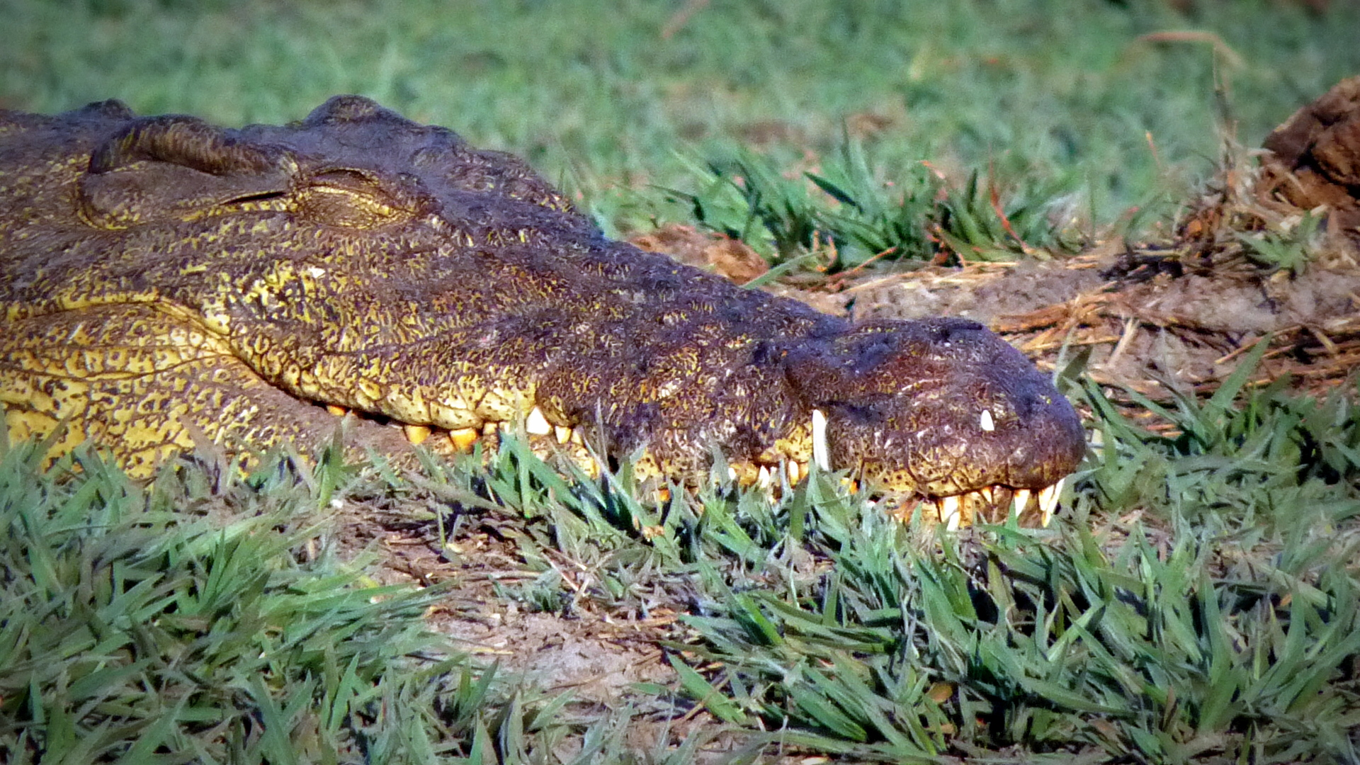
[[[884,180],[990,167],[1108,223],[1208,176],[1224,118],[1255,146],[1360,72],[1350,0],[0,0],[0,18],[5,108],[121,98],[239,125],[358,93],[528,157],[613,231],[683,218],[649,189],[692,189],[696,159],[816,166],[847,137]]]

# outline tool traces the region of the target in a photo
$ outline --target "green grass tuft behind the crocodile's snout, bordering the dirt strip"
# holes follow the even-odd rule
[[[1062,189],[1019,178],[1019,188],[1002,188],[1004,180],[979,173],[951,188],[925,165],[885,185],[857,144],[845,144],[820,172],[792,178],[756,157],[713,163],[706,176],[698,192],[672,189],[668,197],[687,204],[700,226],[763,250],[781,271],[812,260],[838,272],[877,260],[1051,257],[1085,241]]]

